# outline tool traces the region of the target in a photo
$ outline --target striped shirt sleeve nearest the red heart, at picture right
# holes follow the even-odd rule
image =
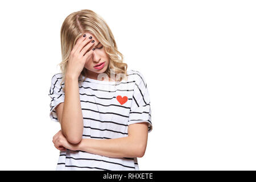
[[[148,133],[150,133],[152,131],[150,95],[143,75],[138,72],[127,125],[142,122],[148,123]]]

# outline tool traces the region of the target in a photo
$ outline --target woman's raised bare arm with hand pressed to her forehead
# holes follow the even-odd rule
[[[86,60],[92,55],[93,50],[89,51],[94,44],[90,39],[81,36],[73,47],[67,64],[65,74],[65,100],[64,104],[56,107],[58,120],[60,121],[61,131],[68,142],[76,144],[82,140],[84,121],[82,116],[80,94],[79,94],[79,75],[84,69]],[[89,51],[89,52],[88,52]]]

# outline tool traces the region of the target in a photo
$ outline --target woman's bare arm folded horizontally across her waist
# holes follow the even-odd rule
[[[60,132],[60,131],[59,131]],[[128,126],[128,137],[114,139],[82,139],[78,144],[67,142],[61,132],[53,137],[55,147],[69,150],[81,150],[110,158],[142,158],[147,147],[148,124],[134,123]]]

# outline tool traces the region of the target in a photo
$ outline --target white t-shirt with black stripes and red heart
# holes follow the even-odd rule
[[[79,84],[84,121],[82,138],[112,139],[127,137],[128,126],[147,122],[152,130],[150,95],[140,72],[127,71],[127,80],[110,82],[85,78]],[[55,107],[64,102],[61,73],[52,77],[49,90],[50,113],[57,120]],[[60,151],[56,170],[139,170],[137,158],[110,158],[85,151]]]

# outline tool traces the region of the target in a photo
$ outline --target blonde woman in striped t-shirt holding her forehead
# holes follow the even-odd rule
[[[49,116],[61,126],[56,170],[139,170],[152,130],[142,73],[127,71],[112,31],[91,10],[64,20],[61,53],[49,90]]]

